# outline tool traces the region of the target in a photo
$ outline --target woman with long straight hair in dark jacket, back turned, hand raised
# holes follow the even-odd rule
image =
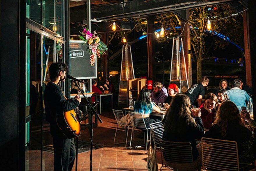
[[[167,110],[164,122],[163,140],[175,142],[190,142],[194,159],[194,167],[202,165],[201,152],[196,148],[195,139],[200,139],[204,134],[204,126],[200,118],[200,111],[191,117],[190,100],[184,94],[177,94]]]

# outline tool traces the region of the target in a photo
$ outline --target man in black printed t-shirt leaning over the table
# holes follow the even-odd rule
[[[185,94],[189,97],[191,105],[199,107],[202,104],[202,98],[205,96],[205,88],[209,83],[207,77],[201,79],[201,83],[192,85]],[[197,103],[196,103],[197,101]]]

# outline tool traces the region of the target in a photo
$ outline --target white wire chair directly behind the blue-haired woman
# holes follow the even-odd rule
[[[131,148],[132,133],[134,128],[137,128],[140,130],[147,130],[147,140],[148,140],[148,131],[150,130],[150,128],[146,127],[142,113],[129,112],[129,114],[131,116],[131,123],[132,123],[131,140],[130,140],[130,148]],[[145,132],[144,132],[144,144],[145,144]],[[147,151],[147,141],[146,141],[146,151]]]

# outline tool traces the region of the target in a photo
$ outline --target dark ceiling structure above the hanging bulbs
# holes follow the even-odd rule
[[[132,17],[147,17],[152,14],[174,12],[186,20],[185,9],[201,6],[229,3],[232,8],[241,11],[248,8],[248,0],[91,0],[92,30],[97,32],[112,32],[109,22]],[[123,22],[123,21],[122,21]],[[86,1],[70,0],[70,33],[76,34],[81,26],[86,25]],[[118,23],[122,28],[133,28],[134,23]],[[108,28],[108,29],[106,29]]]

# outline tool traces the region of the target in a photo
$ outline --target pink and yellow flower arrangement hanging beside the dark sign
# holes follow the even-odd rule
[[[108,50],[108,47],[105,43],[100,41],[96,31],[92,34],[88,28],[84,28],[80,33],[82,36],[79,36],[79,38],[83,40],[83,44],[87,44],[90,49],[90,64],[94,66],[96,57],[100,58],[102,54],[106,54],[105,51]]]

